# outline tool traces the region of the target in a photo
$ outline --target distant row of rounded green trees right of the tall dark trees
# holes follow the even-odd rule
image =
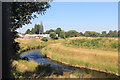
[[[58,37],[61,38],[69,38],[69,37],[80,37],[80,36],[85,36],[85,37],[118,37],[120,34],[120,31],[117,30],[110,30],[108,33],[107,31],[102,31],[101,33],[95,32],[95,31],[85,31],[83,32],[77,32],[75,30],[69,30],[65,32],[61,28],[57,28],[56,30],[50,29],[47,30],[46,32],[43,32],[43,34],[50,34],[50,32],[55,32],[58,34]]]

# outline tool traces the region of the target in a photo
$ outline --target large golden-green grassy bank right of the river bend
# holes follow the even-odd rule
[[[117,42],[114,38],[70,38],[63,43],[48,45],[42,53],[74,66],[118,74]]]

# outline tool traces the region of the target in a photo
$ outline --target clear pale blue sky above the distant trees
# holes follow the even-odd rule
[[[24,33],[40,21],[44,31],[58,27],[78,32],[118,30],[118,2],[52,2],[50,5],[45,15],[37,15],[32,24],[17,31]]]

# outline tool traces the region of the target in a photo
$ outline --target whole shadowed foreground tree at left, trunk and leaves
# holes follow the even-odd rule
[[[33,13],[43,15],[44,12],[49,8],[48,2],[5,2],[2,3],[2,25],[4,30],[3,37],[3,73],[2,79],[13,77],[10,75],[10,59],[16,58],[15,55],[19,50],[19,43],[15,42],[14,39],[17,37],[16,29],[21,28],[25,24],[31,23],[31,19],[36,18]],[[3,44],[2,44],[3,45]]]

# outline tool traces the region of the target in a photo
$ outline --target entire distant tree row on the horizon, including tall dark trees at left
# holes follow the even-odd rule
[[[110,30],[108,33],[107,33],[107,31],[102,31],[101,33],[98,33],[95,31],[85,31],[85,33],[83,33],[83,32],[77,32],[75,30],[69,30],[69,31],[65,32],[61,28],[57,28],[56,30],[50,29],[50,30],[47,30],[46,32],[43,32],[43,25],[35,25],[35,27],[32,28],[31,31],[30,31],[30,29],[28,29],[25,32],[25,34],[39,34],[40,28],[42,28],[40,30],[40,32],[42,34],[52,34],[52,35],[58,34],[58,37],[61,37],[61,38],[80,37],[80,36],[85,36],[85,37],[118,37],[118,33],[120,33],[120,31],[117,31],[117,30],[114,30],[114,31]]]

